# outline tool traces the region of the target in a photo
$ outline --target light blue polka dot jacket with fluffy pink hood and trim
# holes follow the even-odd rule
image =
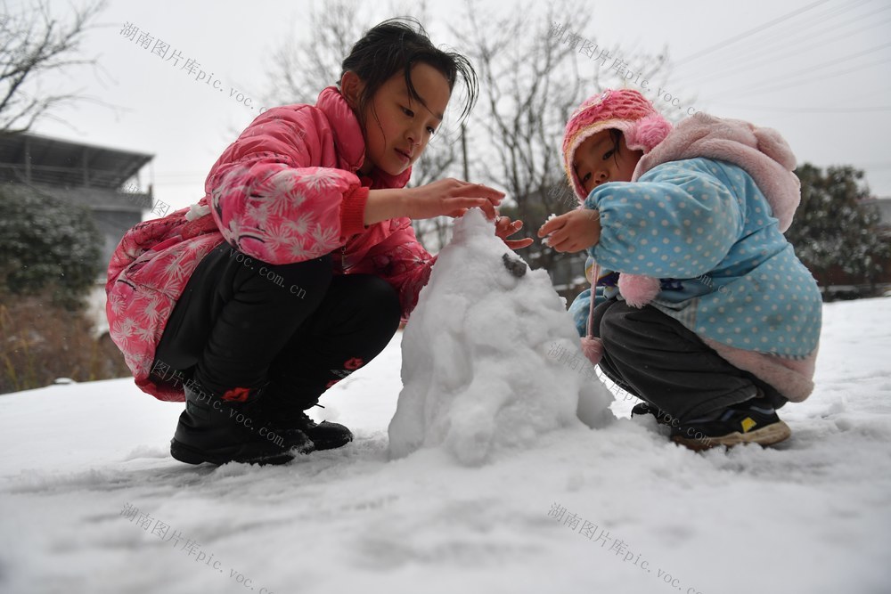
[[[584,199],[601,220],[586,268],[592,258],[601,266],[598,302],[617,296],[614,271],[657,277],[650,305],[802,401],[813,391],[822,300],[782,234],[800,198],[794,157],[772,130],[703,116],[645,155],[634,182],[605,183]],[[590,298],[584,291],[569,308],[580,336]]]

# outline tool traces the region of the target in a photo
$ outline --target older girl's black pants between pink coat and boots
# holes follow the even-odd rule
[[[380,354],[400,313],[387,281],[335,274],[331,254],[275,265],[224,242],[192,273],[155,362],[217,394],[266,385],[308,407]]]

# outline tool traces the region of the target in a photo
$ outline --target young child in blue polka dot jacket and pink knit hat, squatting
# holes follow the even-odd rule
[[[623,89],[573,113],[563,158],[581,206],[538,234],[591,256],[602,297],[569,308],[585,354],[676,443],[788,438],[776,409],[813,391],[822,307],[782,234],[800,200],[789,144],[703,113],[673,129]]]

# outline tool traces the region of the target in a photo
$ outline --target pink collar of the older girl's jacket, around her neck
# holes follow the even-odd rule
[[[347,100],[340,94],[337,86],[328,86],[319,94],[315,107],[322,110],[331,126],[334,150],[337,151],[340,167],[360,175],[357,172],[365,159],[365,140],[359,120]],[[375,168],[370,175],[372,188],[402,188],[411,176],[411,167],[400,175],[388,175]]]

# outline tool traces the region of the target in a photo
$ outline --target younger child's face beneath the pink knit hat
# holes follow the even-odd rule
[[[630,182],[642,156],[643,151],[628,150],[625,134],[621,134],[617,146],[610,131],[601,130],[578,145],[572,167],[588,194],[601,183]]]

